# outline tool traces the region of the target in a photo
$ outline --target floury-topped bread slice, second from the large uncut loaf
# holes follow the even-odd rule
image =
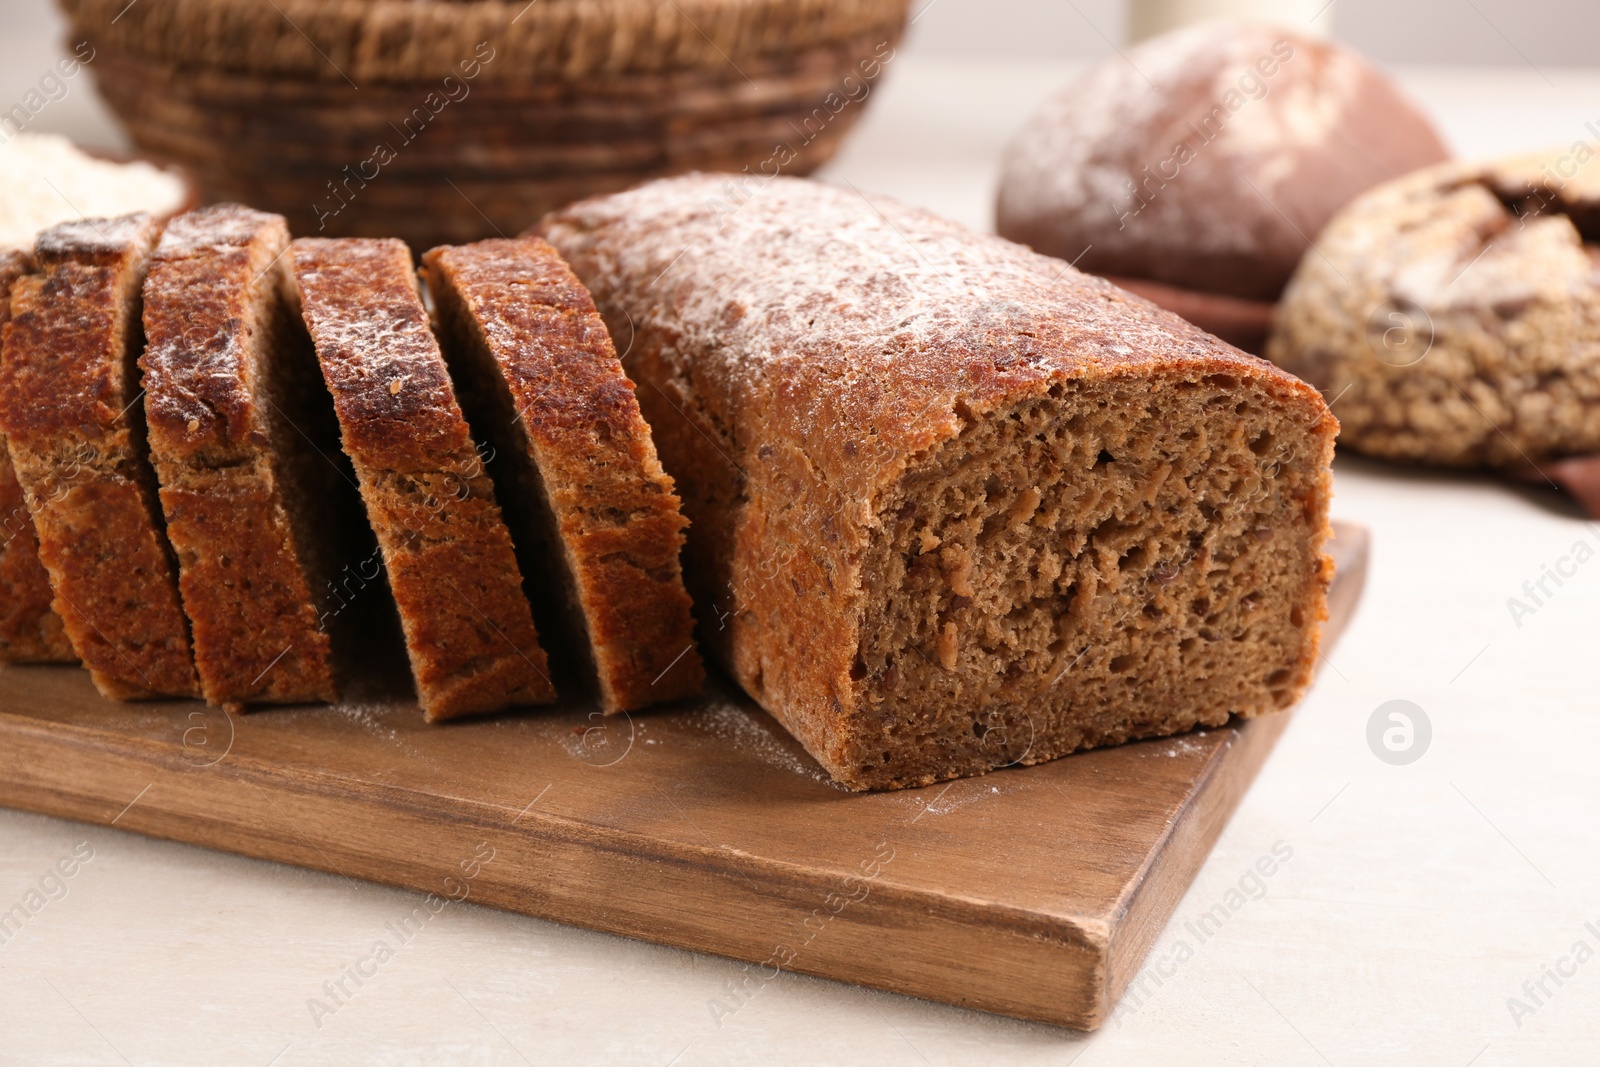
[[[397,240],[301,238],[294,291],[429,720],[555,699],[494,486]]]

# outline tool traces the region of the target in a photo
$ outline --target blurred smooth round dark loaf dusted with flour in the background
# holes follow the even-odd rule
[[[1048,101],[1005,154],[997,229],[1091,274],[1275,301],[1341,206],[1448,157],[1360,56],[1206,22]]]

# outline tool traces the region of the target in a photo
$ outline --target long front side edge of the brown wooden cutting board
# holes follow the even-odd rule
[[[37,725],[0,726],[0,733],[10,742],[0,757],[0,805],[435,899],[464,885],[459,864],[482,841],[494,849],[494,861],[470,880],[467,899],[746,961],[746,982],[765,984],[781,965],[1075,1029],[1088,1021],[1104,982],[1109,931],[896,885],[893,851],[882,877],[846,885],[837,872],[714,846],[664,848],[654,838],[635,841],[626,832],[538,813],[517,819],[517,813],[470,801],[448,809],[422,805],[419,793],[403,787],[382,789],[374,805],[373,787],[358,793],[341,789],[338,779],[317,781],[270,765],[195,768],[166,750],[62,739]],[[62,789],[66,781],[83,787]],[[104,801],[107,795],[134,803],[117,811]],[[320,825],[346,832],[320,833]],[[483,837],[467,840],[475,833]],[[394,840],[406,841],[403,862],[395,859]],[[702,899],[709,881],[718,886],[718,909],[670,905]],[[787,934],[773,937],[773,929]],[[915,966],[904,966],[907,958]]]

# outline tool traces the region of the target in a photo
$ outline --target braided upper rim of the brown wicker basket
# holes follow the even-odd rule
[[[365,82],[581,80],[733,69],[882,42],[910,0],[58,0],[96,51],[187,69]],[[870,51],[870,48],[869,48]],[[862,56],[866,58],[866,56]]]

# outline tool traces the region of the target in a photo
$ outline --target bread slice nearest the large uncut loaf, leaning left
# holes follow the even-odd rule
[[[699,693],[688,523],[589,291],[539,238],[435,248],[422,264],[520,558],[549,590],[531,598],[565,606],[544,632],[578,638],[606,712]]]

